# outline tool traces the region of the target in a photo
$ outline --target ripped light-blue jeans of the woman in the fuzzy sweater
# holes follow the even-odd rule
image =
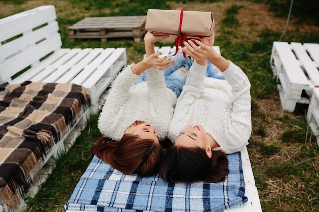
[[[178,98],[183,85],[185,84],[188,72],[193,65],[190,57],[184,57],[182,52],[178,52],[176,55],[171,55],[171,61],[175,61],[174,65],[163,70],[166,87],[173,90]],[[141,77],[134,82],[134,84],[146,81],[146,72],[141,74]]]

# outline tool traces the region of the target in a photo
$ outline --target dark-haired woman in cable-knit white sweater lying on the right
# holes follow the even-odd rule
[[[214,40],[213,33],[211,39],[184,42],[182,48],[195,62],[170,124],[168,137],[174,145],[166,150],[159,168],[169,183],[222,181],[228,174],[226,154],[248,144],[250,82],[239,67],[212,48]],[[207,60],[226,80],[205,78]]]

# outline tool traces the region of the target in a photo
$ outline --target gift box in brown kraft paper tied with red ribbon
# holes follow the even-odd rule
[[[211,12],[149,9],[145,28],[153,35],[210,37],[214,31]]]

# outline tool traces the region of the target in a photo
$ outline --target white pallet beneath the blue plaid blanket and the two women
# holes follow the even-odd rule
[[[213,46],[213,48],[221,54],[219,46]],[[163,56],[167,56],[168,54],[175,52],[176,48],[171,48],[170,46],[162,46],[162,47],[155,47],[155,52],[162,52]],[[238,207],[233,207],[230,209],[225,209],[224,211],[216,211],[216,212],[261,212],[261,204],[258,195],[258,190],[255,185],[255,178],[253,174],[253,170],[251,167],[248,150],[245,146],[241,150],[242,155],[242,163],[243,163],[243,174],[245,179],[245,196],[247,196],[248,201],[245,202],[243,205]],[[67,210],[66,212],[81,212],[81,211],[74,211],[74,210]]]

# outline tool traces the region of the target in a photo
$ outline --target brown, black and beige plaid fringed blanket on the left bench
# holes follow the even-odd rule
[[[23,82],[0,85],[0,195],[16,206],[46,156],[90,106],[85,87]]]

